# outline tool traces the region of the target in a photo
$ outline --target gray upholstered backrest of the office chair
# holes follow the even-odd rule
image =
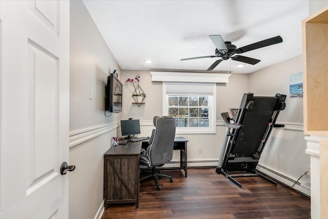
[[[160,166],[172,160],[175,120],[171,116],[157,117],[155,127],[148,155],[153,166]]]

